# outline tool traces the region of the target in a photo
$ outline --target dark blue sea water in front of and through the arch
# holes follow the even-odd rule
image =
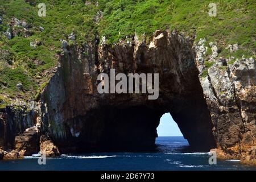
[[[256,170],[232,160],[210,165],[208,153],[185,152],[183,137],[159,137],[156,144],[155,152],[62,155],[47,158],[46,165],[38,164],[38,156],[0,161],[0,170]]]

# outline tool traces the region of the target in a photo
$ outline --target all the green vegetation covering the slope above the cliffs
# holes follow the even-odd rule
[[[93,42],[97,35],[105,36],[107,43],[117,43],[135,32],[148,42],[155,30],[170,29],[196,35],[196,41],[206,38],[207,43],[217,42],[222,50],[219,56],[253,56],[255,0],[214,2],[217,17],[208,15],[211,0],[42,0],[46,17],[39,17],[38,1],[0,0],[0,95],[38,97],[50,76],[44,73],[57,63],[61,40],[68,40],[72,32],[76,39],[69,40],[69,44],[83,45]],[[15,27],[18,35],[6,38],[4,32],[14,17],[27,22],[30,36],[22,27]],[[38,44],[32,48],[31,42]],[[225,49],[235,43],[240,45],[237,52]],[[208,48],[207,55],[211,53]],[[205,62],[207,69],[211,66]],[[207,76],[207,69],[203,76]],[[24,91],[17,90],[18,82],[22,82]]]

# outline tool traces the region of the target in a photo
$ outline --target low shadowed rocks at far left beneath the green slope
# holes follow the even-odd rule
[[[35,102],[7,106],[0,111],[0,155],[3,159],[23,158],[38,152],[39,113]]]

